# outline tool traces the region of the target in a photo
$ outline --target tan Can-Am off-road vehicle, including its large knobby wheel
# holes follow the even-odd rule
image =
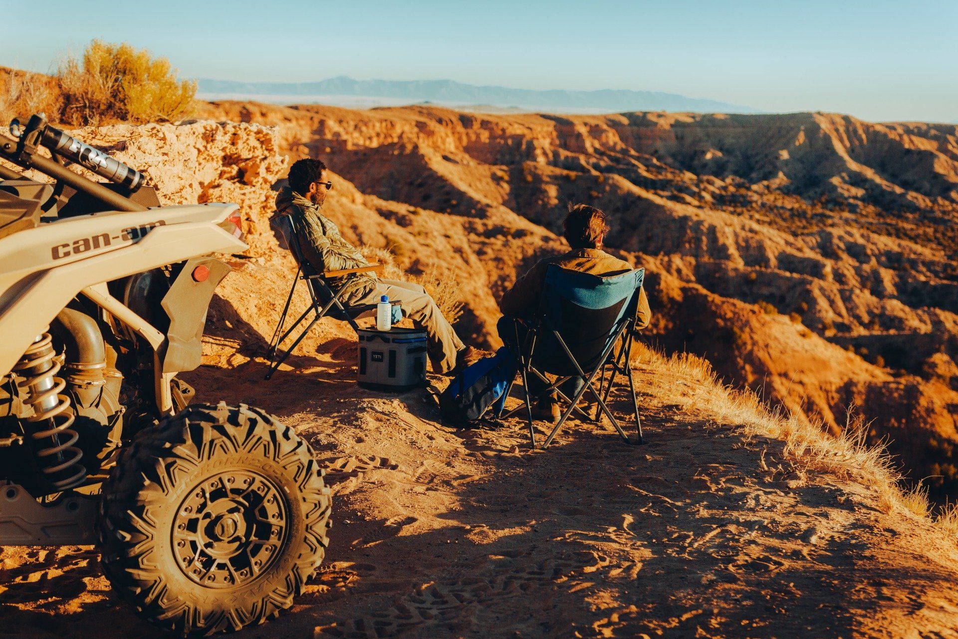
[[[230,270],[210,254],[246,249],[239,207],[161,207],[42,116],[10,130],[0,158],[54,182],[0,165],[0,545],[96,543],[117,594],[177,633],[275,616],[323,559],[323,473],[291,428],[188,407],[175,377]]]

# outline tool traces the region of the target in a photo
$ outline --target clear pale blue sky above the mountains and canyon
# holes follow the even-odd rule
[[[189,78],[633,89],[771,112],[958,121],[958,0],[41,0],[40,14],[27,6],[0,0],[0,65],[47,72],[101,38],[169,57]]]

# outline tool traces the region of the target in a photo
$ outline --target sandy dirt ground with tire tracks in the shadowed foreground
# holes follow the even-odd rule
[[[781,442],[716,420],[688,379],[640,370],[645,445],[573,423],[531,451],[521,422],[445,427],[424,392],[359,389],[352,349],[331,352],[264,383],[255,360],[193,374],[294,424],[334,495],[323,569],[238,639],[958,636],[953,541],[861,485],[796,482]],[[4,548],[0,636],[160,636],[97,561]]]

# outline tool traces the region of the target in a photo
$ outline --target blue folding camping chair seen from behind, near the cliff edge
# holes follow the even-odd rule
[[[532,402],[552,393],[558,395],[567,407],[543,447],[552,444],[562,424],[573,412],[587,422],[599,422],[604,414],[626,444],[633,444],[605,405],[619,375],[628,379],[632,394],[635,429],[638,433],[638,440],[634,444],[642,444],[642,421],[629,356],[639,290],[645,273],[644,268],[639,268],[621,275],[600,277],[558,265],[549,266],[538,312],[526,325],[524,336],[519,334],[516,324],[515,344],[518,345],[519,375],[522,377],[525,403],[502,416],[509,417],[525,408],[529,419],[529,438],[534,448],[536,434],[533,431]],[[556,376],[556,379],[550,381],[547,374]],[[532,376],[547,385],[535,398],[530,397],[529,392],[529,379]],[[597,377],[598,388],[593,385]],[[582,388],[571,398],[559,388],[569,379],[582,382]],[[506,391],[507,396],[511,390],[512,385]],[[586,392],[596,401],[594,416],[586,415],[578,407]]]

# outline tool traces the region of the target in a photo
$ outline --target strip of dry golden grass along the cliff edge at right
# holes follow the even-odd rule
[[[856,481],[878,493],[878,506],[884,512],[907,512],[929,517],[927,488],[919,484],[905,488],[884,445],[867,442],[867,424],[850,410],[840,435],[830,435],[822,424],[809,422],[784,410],[773,409],[749,390],[723,385],[711,364],[694,354],[667,356],[643,347],[634,362],[656,371],[694,382],[696,407],[723,423],[741,424],[752,436],[764,436],[785,442],[785,452],[794,469],[825,472],[843,480]],[[935,519],[940,529],[958,535],[958,505],[946,507]]]

